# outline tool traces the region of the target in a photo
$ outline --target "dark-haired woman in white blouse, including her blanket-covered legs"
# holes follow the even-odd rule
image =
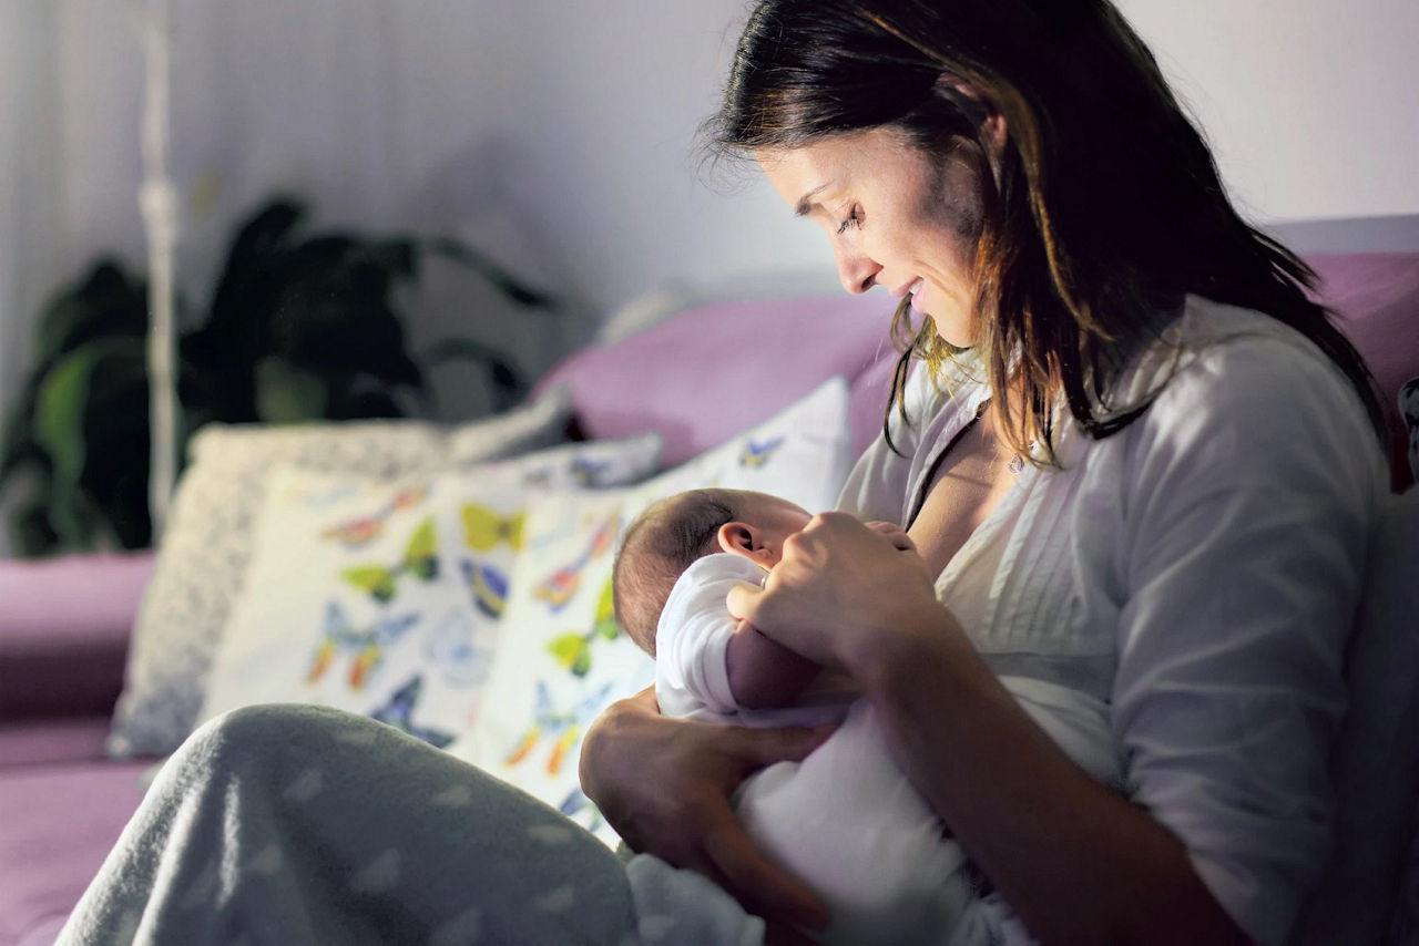
[[[850,291],[907,301],[844,508],[921,550],[820,516],[731,607],[874,701],[986,879],[983,936],[1283,940],[1328,857],[1384,482],[1308,271],[1237,218],[1103,0],[765,0],[714,129]],[[998,672],[1111,701],[1128,797]],[[243,711],[169,763],[61,939],[755,942],[758,913],[792,940],[822,909],[728,798],[822,738],[619,703],[582,777],[647,852],[623,865],[386,728]]]

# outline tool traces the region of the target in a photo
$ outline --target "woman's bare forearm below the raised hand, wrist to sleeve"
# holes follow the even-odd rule
[[[1249,942],[1174,834],[1078,769],[945,608],[922,618],[861,682],[907,776],[1040,940]]]

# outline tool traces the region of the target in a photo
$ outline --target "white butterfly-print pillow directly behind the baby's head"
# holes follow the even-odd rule
[[[631,489],[548,494],[526,523],[484,711],[450,752],[580,821],[614,833],[582,794],[580,736],[612,701],[654,682],[610,603],[613,547],[651,502],[695,486],[759,489],[829,509],[853,461],[849,389],[837,377],[776,417]]]

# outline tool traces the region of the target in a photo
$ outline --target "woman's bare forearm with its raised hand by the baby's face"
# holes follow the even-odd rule
[[[1043,942],[1247,942],[1181,842],[1016,705],[920,559],[827,513],[789,540],[765,590],[729,603],[856,678],[912,784]]]

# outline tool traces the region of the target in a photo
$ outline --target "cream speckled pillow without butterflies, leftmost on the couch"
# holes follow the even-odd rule
[[[109,755],[166,755],[192,732],[245,574],[271,467],[379,477],[434,471],[453,455],[473,462],[556,443],[569,417],[570,396],[558,389],[453,431],[416,421],[204,427],[189,445],[189,467],[138,610]]]

